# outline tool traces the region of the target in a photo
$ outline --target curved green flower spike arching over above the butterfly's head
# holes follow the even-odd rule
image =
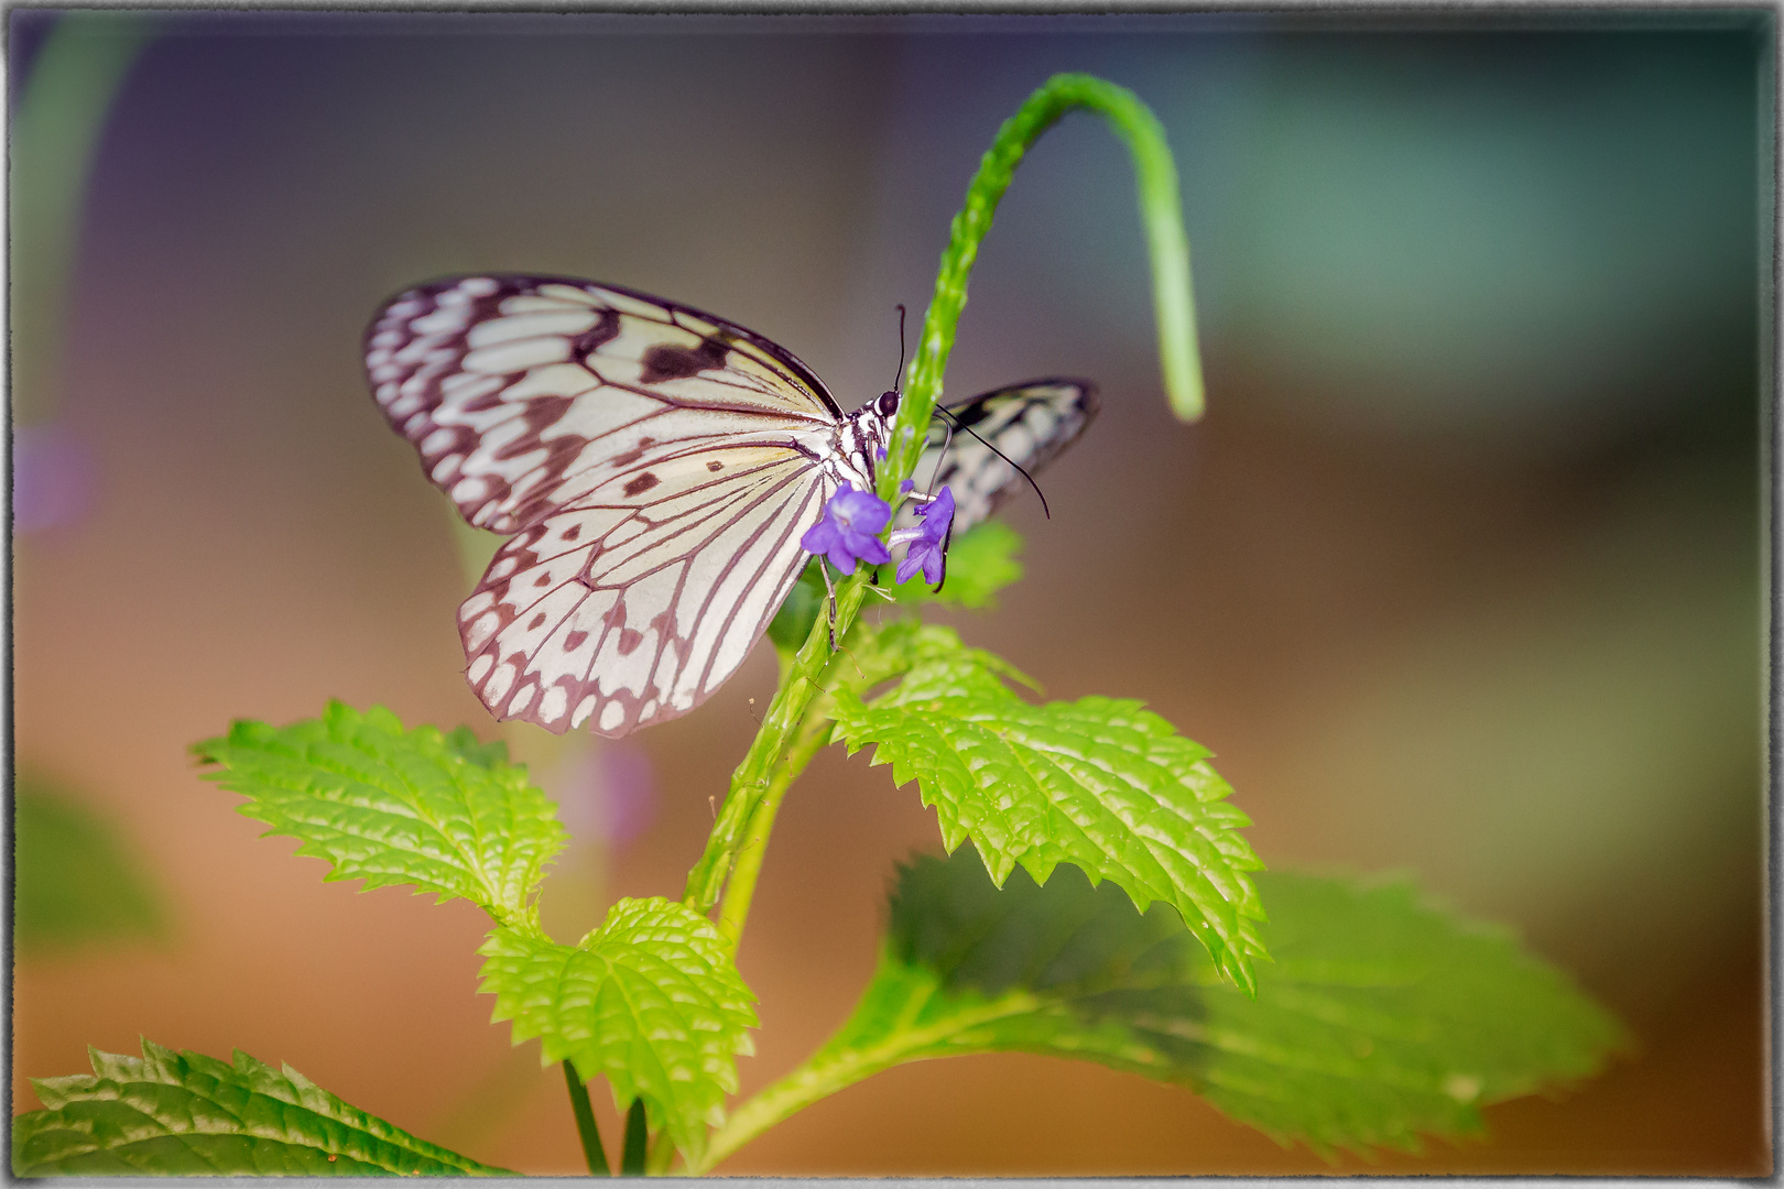
[[[954,346],[954,328],[967,305],[967,278],[979,255],[979,241],[992,226],[992,216],[1010,178],[1042,132],[1065,112],[1092,111],[1127,144],[1140,194],[1140,223],[1145,226],[1147,255],[1152,264],[1152,307],[1158,316],[1158,357],[1170,408],[1183,421],[1202,415],[1202,365],[1195,342],[1195,301],[1190,291],[1190,241],[1183,230],[1183,205],[1177,198],[1177,166],[1152,111],[1126,87],[1090,75],[1054,75],[1015,116],[997,130],[997,139],[979,160],[979,171],[967,187],[967,201],[954,216],[942,267],[935,276],[935,296],[922,319],[922,337],[910,362],[910,380],[897,426],[892,431],[888,465],[880,474],[880,496],[890,499],[897,485],[917,465],[928,435],[929,414],[942,396],[942,373]]]

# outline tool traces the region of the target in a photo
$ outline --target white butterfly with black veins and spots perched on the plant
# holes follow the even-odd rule
[[[458,608],[466,679],[498,718],[607,736],[680,717],[742,665],[844,485],[874,488],[897,390],[844,414],[769,339],[676,301],[558,276],[455,276],[366,330],[391,426],[458,513],[510,537]],[[1095,415],[1095,389],[987,392],[919,474],[990,513]],[[999,456],[1003,451],[1004,456]],[[924,471],[928,467],[928,471]],[[937,467],[940,471],[937,472]]]

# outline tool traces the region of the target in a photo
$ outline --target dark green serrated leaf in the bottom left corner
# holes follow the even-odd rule
[[[512,1177],[241,1050],[234,1064],[150,1041],[141,1059],[87,1052],[93,1075],[32,1080],[46,1109],[12,1119],[16,1177]]]

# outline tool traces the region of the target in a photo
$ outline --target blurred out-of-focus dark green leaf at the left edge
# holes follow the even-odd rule
[[[21,952],[166,936],[166,909],[145,865],[75,797],[21,774],[12,841],[12,939]]]

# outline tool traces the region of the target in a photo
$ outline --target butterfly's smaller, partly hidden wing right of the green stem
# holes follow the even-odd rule
[[[951,405],[949,412],[960,424],[979,437],[956,428],[944,453],[947,426],[942,417],[931,421],[929,440],[913,476],[917,487],[928,490],[933,476],[935,490],[942,485],[953,490],[958,537],[995,512],[1015,487],[1026,487],[1015,467],[999,458],[990,446],[1033,476],[1078,440],[1097,415],[1097,408],[1094,383],[1058,378],[1028,380]],[[937,474],[938,463],[940,474]],[[915,522],[913,510],[915,504],[906,504],[899,522]]]

